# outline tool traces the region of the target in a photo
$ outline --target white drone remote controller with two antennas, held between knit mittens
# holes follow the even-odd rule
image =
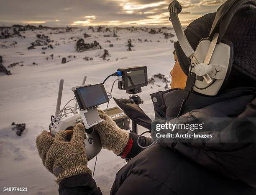
[[[82,85],[72,88],[75,94],[75,100],[76,100],[74,107],[70,107],[70,106],[66,107],[65,105],[64,108],[60,110],[61,96],[62,96],[63,83],[64,83],[64,80],[62,79],[60,80],[56,112],[55,112],[54,118],[51,120],[51,124],[49,125],[49,130],[51,131],[51,135],[54,136],[56,135],[57,132],[61,130],[72,130],[78,122],[82,122],[85,126],[84,145],[85,145],[85,150],[87,154],[87,160],[89,161],[92,158],[94,158],[98,153],[100,153],[102,148],[100,137],[97,131],[95,131],[93,128],[93,126],[100,123],[102,119],[100,119],[97,112],[97,107],[98,105],[101,104],[101,102],[99,102],[98,105],[90,105],[90,103],[93,103],[93,102],[81,101],[81,98],[86,99],[87,98],[86,95],[88,94],[90,95],[90,92],[88,90],[95,89],[95,87],[93,87],[95,85],[84,85],[85,81],[86,81],[86,76],[84,77]],[[89,86],[90,88],[87,86]],[[96,87],[96,88],[99,88],[99,87]],[[103,94],[105,95],[104,92],[105,92],[105,89],[103,91]],[[95,95],[95,91],[93,91],[93,93]],[[85,103],[87,103],[86,109],[84,109],[83,107]],[[80,112],[78,112],[77,109]],[[67,113],[67,111],[71,111],[71,112]],[[70,113],[72,113],[72,115],[68,115]]]

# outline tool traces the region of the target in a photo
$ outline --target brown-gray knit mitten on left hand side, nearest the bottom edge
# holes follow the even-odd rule
[[[59,184],[64,178],[92,172],[87,168],[84,149],[84,125],[78,123],[73,128],[70,142],[66,141],[67,132],[59,131],[53,138],[43,131],[36,138],[36,146],[44,166],[53,173]]]

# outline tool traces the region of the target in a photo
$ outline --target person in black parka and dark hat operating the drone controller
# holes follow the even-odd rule
[[[184,31],[194,50],[198,42],[209,35],[214,18],[215,13],[204,15]],[[235,15],[224,39],[234,45],[228,82],[214,97],[190,93],[178,118],[175,117],[182,104],[189,63],[179,42],[174,43],[176,63],[171,71],[172,89],[151,94],[156,120],[174,117],[170,122],[182,122],[186,117],[256,117],[256,9]],[[127,103],[126,106],[134,107],[133,112],[127,113],[131,118],[136,116],[136,120],[145,124],[150,121],[136,105]],[[137,144],[138,135],[118,128],[104,112],[99,110],[99,114],[104,121],[96,125],[95,130],[102,147],[128,160],[116,174],[110,195],[256,195],[256,143],[221,143],[220,130],[212,132],[216,135],[215,143],[155,143],[142,149]],[[75,126],[73,134],[78,140],[82,140],[79,139],[79,135],[83,136],[81,132],[84,132],[83,126]],[[42,133],[36,142],[44,166],[57,177],[59,194],[101,195],[87,168],[87,160],[76,155],[82,153],[86,157],[81,143],[72,142],[73,153],[50,155],[56,146],[67,143],[66,136],[62,132],[51,138]],[[152,142],[151,138],[143,136],[139,140],[144,147]],[[64,165],[61,159],[66,159]]]

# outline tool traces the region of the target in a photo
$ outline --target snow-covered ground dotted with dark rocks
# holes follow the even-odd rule
[[[96,84],[115,72],[118,67],[146,65],[148,78],[161,73],[170,80],[169,72],[174,65],[174,47],[170,40],[175,41],[175,37],[165,39],[163,33],[150,34],[150,28],[148,32],[141,29],[131,32],[127,28],[120,28],[116,30],[118,37],[113,37],[113,28],[110,30],[112,32],[105,32],[104,29],[103,32],[92,32],[88,28],[77,28],[72,32],[63,33],[55,29],[30,30],[21,32],[26,38],[0,40],[3,65],[8,67],[12,63],[20,62],[15,67],[8,68],[12,75],[0,75],[0,194],[18,194],[3,192],[3,187],[27,187],[27,194],[58,194],[58,185],[54,182],[54,176],[42,165],[35,140],[42,130],[48,130],[50,117],[54,115],[60,79],[64,79],[62,106],[73,97],[71,87],[80,85],[84,75],[87,75],[87,83]],[[174,34],[172,29],[164,28],[162,31]],[[91,37],[84,38],[85,32]],[[37,34],[47,35],[54,40],[51,42],[54,48],[42,50],[45,46],[38,46],[28,50],[30,43],[38,39]],[[96,40],[102,49],[77,52],[75,45],[79,38],[83,38],[87,43]],[[127,51],[128,47],[125,45],[128,39],[132,40],[133,51]],[[106,42],[107,40],[110,42]],[[17,42],[15,47],[10,45],[13,41]],[[110,47],[110,44],[113,44],[113,47]],[[100,58],[104,49],[110,54],[106,60]],[[72,57],[68,57],[69,55]],[[62,64],[63,57],[69,62]],[[92,57],[93,60],[87,61],[84,57]],[[33,65],[33,62],[36,64]],[[105,83],[107,91],[110,90],[113,80],[114,78],[110,77]],[[142,93],[139,94],[144,100],[141,107],[150,117],[154,117],[150,93],[165,90],[164,86],[165,83],[161,81],[158,85],[149,84],[143,87]],[[118,90],[117,83],[113,96],[129,97],[125,91]],[[109,107],[113,106],[115,102],[110,100]],[[100,107],[105,109],[106,105]],[[12,130],[12,122],[26,123],[26,130],[20,137]],[[140,133],[143,130],[139,127]],[[95,159],[89,162],[89,168],[93,169],[94,161]],[[125,161],[108,150],[102,150],[98,155],[94,178],[104,195],[110,192],[115,173],[123,165]]]

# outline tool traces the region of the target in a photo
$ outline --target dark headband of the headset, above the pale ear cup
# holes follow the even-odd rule
[[[233,16],[240,11],[256,8],[256,0],[227,0],[221,5],[215,15],[210,31],[209,39],[212,39],[214,33],[218,32],[218,43],[222,40]]]

